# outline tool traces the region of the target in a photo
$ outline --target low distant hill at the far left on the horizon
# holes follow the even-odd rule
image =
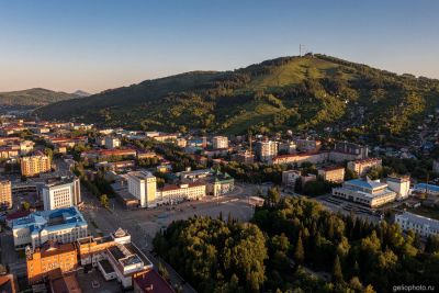
[[[83,91],[67,93],[63,91],[34,88],[22,91],[0,92],[0,105],[41,106],[58,101],[83,98],[88,93]]]

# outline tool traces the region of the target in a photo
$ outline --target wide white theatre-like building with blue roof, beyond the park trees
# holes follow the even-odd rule
[[[396,199],[396,192],[389,189],[386,183],[353,179],[345,181],[341,188],[333,189],[333,196],[352,201],[369,207],[378,207]]]

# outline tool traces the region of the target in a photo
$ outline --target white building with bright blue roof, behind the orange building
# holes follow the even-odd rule
[[[34,212],[12,222],[15,249],[41,247],[48,240],[60,244],[86,237],[88,224],[76,206]]]

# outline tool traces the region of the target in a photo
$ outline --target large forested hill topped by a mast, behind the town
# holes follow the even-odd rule
[[[146,80],[54,103],[37,114],[143,129],[238,134],[330,126],[403,136],[438,105],[438,80],[307,55]]]

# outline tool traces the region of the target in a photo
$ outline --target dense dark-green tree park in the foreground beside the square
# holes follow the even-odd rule
[[[156,251],[200,292],[387,292],[436,284],[439,237],[329,213],[271,194],[251,223],[193,217],[172,223]]]

